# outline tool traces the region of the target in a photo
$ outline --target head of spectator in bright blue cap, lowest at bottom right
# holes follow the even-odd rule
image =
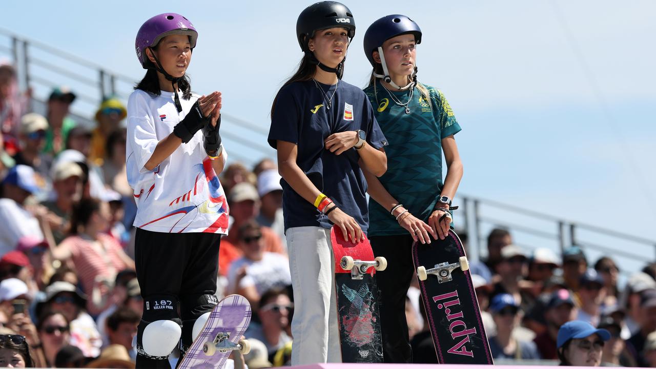
[[[558,330],[558,358],[565,366],[600,366],[605,341],[611,334],[581,320],[572,320]]]

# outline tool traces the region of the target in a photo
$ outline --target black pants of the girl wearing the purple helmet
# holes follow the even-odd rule
[[[147,303],[171,300],[170,319],[182,324],[182,346],[192,344],[195,320],[216,305],[218,248],[221,236],[214,233],[164,233],[136,228],[134,262],[136,278],[144,298],[144,320],[139,324],[137,342],[149,322]],[[178,315],[178,306],[180,314]],[[138,347],[140,348],[140,347]],[[180,358],[182,360],[182,358]],[[168,360],[138,353],[137,368],[170,368]]]

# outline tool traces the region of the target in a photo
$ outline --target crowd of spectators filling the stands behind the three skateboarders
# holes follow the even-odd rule
[[[125,176],[126,110],[108,97],[96,127],[78,125],[70,117],[75,98],[56,87],[44,116],[29,112],[14,68],[0,66],[0,366],[134,367],[143,306],[133,260],[136,206]],[[221,177],[230,234],[221,241],[216,294],[239,293],[253,307],[245,334],[253,369],[289,364],[291,353],[279,181],[270,159],[252,169],[229,163]],[[576,246],[562,255],[528,253],[495,229],[487,258],[470,271],[495,358],[574,360],[581,350],[608,365],[656,367],[656,265],[619,286],[611,257],[593,265]],[[437,362],[417,287],[406,309],[413,355]],[[587,326],[570,324],[569,339],[559,343],[573,321],[609,336],[579,339]]]

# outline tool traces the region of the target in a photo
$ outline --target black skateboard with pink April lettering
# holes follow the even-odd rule
[[[440,364],[494,364],[458,235],[415,242],[412,254]]]

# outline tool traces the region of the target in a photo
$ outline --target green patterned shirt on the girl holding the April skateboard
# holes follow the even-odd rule
[[[415,88],[408,105],[396,104],[377,81],[376,89],[365,93],[376,110],[375,116],[389,146],[387,171],[379,177],[382,186],[415,217],[427,222],[443,186],[441,140],[455,135],[461,128],[453,110],[440,90],[424,85],[430,102]],[[405,103],[409,91],[391,91],[396,100]],[[390,212],[369,199],[368,236],[407,234]]]

